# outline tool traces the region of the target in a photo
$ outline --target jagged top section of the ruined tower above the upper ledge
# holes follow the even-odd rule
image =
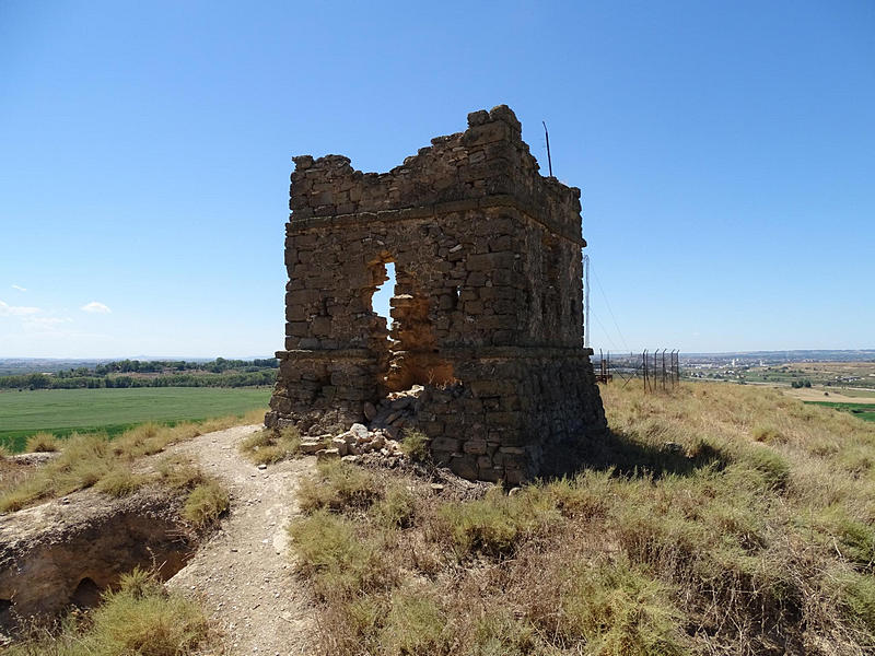
[[[431,143],[388,173],[355,171],[342,155],[294,157],[290,223],[351,214],[366,221],[408,208],[504,199],[557,234],[584,244],[580,189],[538,173],[522,126],[506,105],[470,113],[467,130]]]

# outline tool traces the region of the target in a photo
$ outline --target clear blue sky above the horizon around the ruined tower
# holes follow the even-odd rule
[[[593,345],[875,348],[875,4],[0,0],[0,356],[282,348],[291,156],[509,104]]]

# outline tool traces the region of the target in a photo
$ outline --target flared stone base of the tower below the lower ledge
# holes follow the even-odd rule
[[[424,385],[407,427],[430,438],[435,464],[455,473],[518,483],[573,469],[607,424],[590,351],[509,347],[442,353],[456,380]],[[377,362],[358,353],[279,352],[280,378],[266,417],[304,434],[368,423],[383,396]]]

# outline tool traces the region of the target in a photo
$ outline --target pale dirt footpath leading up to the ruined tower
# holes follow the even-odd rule
[[[237,445],[260,426],[209,433],[168,449],[189,455],[231,493],[231,512],[168,585],[198,595],[224,633],[230,656],[313,652],[312,598],[294,577],[285,526],[299,514],[294,490],[315,458],[259,470]]]

